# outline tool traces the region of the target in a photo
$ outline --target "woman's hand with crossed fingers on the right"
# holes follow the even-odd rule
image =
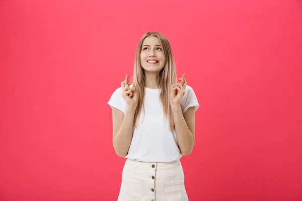
[[[179,78],[178,80],[180,81],[180,83],[172,85],[170,93],[171,107],[180,106],[181,99],[185,94],[185,89],[187,86],[187,82],[185,80],[185,73],[183,74],[182,78]]]

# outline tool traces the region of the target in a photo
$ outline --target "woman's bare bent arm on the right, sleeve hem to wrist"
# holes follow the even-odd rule
[[[195,107],[182,114],[181,107],[171,107],[175,122],[176,138],[182,155],[192,152],[195,143]]]

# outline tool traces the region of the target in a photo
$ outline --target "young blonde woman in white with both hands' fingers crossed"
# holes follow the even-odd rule
[[[145,33],[136,48],[133,84],[126,74],[108,102],[114,149],[127,158],[118,201],[188,200],[180,158],[193,149],[199,104],[185,74],[178,81],[168,39]]]

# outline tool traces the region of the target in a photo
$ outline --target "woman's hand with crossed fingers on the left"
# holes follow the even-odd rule
[[[126,79],[125,81],[121,82],[121,86],[122,86],[122,95],[123,98],[126,100],[127,106],[128,107],[136,107],[137,105],[137,93],[135,90],[135,87],[132,87],[130,89],[130,83],[128,80],[128,74],[126,74]]]

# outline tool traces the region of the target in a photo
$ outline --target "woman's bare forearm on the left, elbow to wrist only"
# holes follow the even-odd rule
[[[136,107],[126,109],[124,120],[113,140],[115,152],[120,157],[125,157],[127,155],[131,144],[135,109]]]

